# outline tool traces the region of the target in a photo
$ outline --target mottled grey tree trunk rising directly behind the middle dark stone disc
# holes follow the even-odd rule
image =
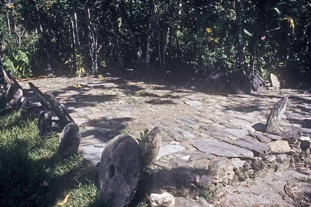
[[[235,10],[236,10],[236,24],[237,24],[237,35],[238,35],[238,59],[237,65],[240,67],[240,71],[245,74],[244,67],[244,42],[243,42],[243,27],[242,27],[242,13],[241,13],[241,0],[235,1]]]

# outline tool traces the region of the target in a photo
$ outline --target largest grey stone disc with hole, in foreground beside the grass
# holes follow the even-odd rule
[[[103,205],[126,207],[132,201],[142,171],[142,155],[137,142],[118,135],[105,146],[100,159],[99,186]]]

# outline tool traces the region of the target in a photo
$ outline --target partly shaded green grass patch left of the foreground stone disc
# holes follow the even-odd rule
[[[37,120],[15,123],[18,113],[0,120],[0,203],[2,206],[100,206],[95,168],[82,156],[56,154],[58,135],[41,139]]]

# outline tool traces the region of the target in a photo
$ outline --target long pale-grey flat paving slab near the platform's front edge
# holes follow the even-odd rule
[[[212,140],[197,140],[193,146],[201,152],[207,154],[214,154],[216,156],[228,158],[245,158],[252,159],[254,154],[252,151],[227,144],[225,142],[212,141]]]

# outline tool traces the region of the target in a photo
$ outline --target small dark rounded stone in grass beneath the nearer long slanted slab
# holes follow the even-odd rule
[[[52,132],[52,112],[51,111],[43,111],[40,113],[38,118],[38,135],[40,137],[47,136]]]

